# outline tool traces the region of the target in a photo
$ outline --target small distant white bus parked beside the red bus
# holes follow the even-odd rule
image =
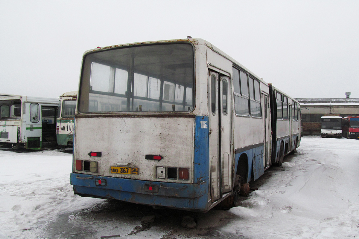
[[[341,138],[341,116],[322,116],[321,117],[321,137]]]

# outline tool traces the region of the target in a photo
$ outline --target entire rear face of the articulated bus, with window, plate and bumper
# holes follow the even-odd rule
[[[86,55],[75,117],[75,193],[208,210],[208,117],[193,113],[193,89],[192,44]]]

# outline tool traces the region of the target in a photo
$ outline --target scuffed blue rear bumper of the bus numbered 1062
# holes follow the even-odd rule
[[[197,184],[133,180],[71,173],[74,193],[137,204],[208,211],[208,182]]]

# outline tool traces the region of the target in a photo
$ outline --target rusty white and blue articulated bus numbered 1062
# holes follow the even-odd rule
[[[74,193],[202,212],[233,202],[241,185],[278,161],[273,142],[283,156],[299,145],[299,104],[285,96],[287,116],[277,120],[272,91],[200,38],[85,52]]]

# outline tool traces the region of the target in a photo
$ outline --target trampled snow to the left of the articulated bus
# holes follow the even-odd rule
[[[0,165],[0,239],[35,238],[33,227],[103,201],[74,195],[69,153],[0,150]]]

